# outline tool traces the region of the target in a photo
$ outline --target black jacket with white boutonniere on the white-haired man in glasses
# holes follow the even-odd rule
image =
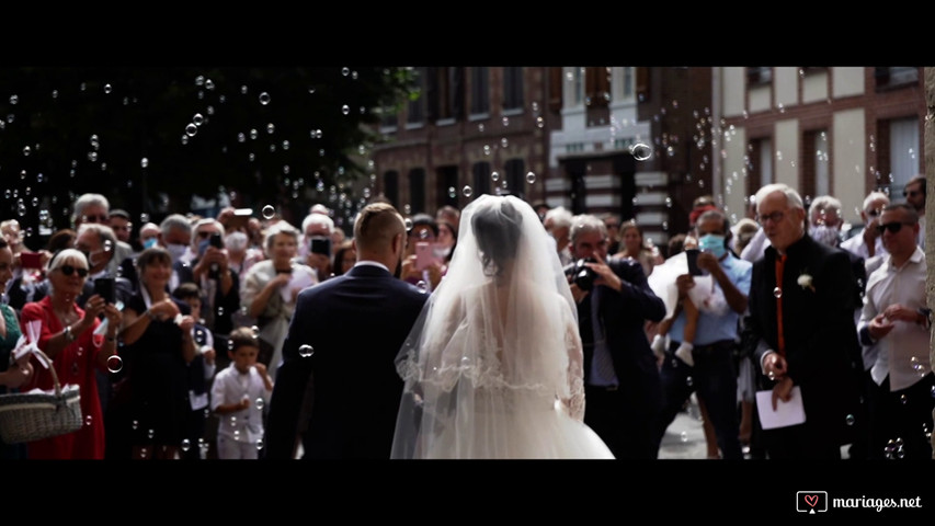
[[[783,335],[788,375],[801,388],[805,428],[816,445],[852,439],[848,415],[859,413],[859,348],[854,309],[857,279],[848,253],[805,235],[787,250],[783,272]],[[759,364],[767,350],[778,350],[776,249],[753,264],[749,329],[759,342]],[[811,276],[814,290],[798,284]],[[772,384],[763,387],[771,387]],[[782,428],[777,430],[782,431]],[[768,432],[767,432],[768,433]]]

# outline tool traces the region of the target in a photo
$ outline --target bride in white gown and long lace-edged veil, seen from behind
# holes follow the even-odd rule
[[[392,458],[614,458],[583,423],[578,315],[538,216],[483,195],[460,225],[397,356]]]

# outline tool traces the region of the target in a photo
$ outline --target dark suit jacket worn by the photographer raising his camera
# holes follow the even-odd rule
[[[649,287],[638,261],[612,258],[607,264],[624,282],[623,289],[618,293],[597,286],[591,294],[596,295],[597,317],[604,328],[614,371],[619,389],[635,402],[634,407],[652,413],[661,407],[662,387],[655,356],[646,339],[645,324],[646,320],[662,320],[665,304]],[[591,323],[590,295],[578,304],[578,313],[580,323]],[[590,380],[593,354],[594,347],[585,345],[585,384]]]

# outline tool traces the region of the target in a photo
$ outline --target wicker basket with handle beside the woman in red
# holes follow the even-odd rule
[[[52,364],[42,351],[39,354]],[[81,428],[81,397],[78,389],[61,392],[58,374],[49,366],[55,393],[0,395],[0,438],[5,444],[33,442]]]

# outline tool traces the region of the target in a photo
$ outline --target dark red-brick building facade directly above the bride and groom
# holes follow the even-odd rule
[[[374,190],[406,214],[481,194],[545,198],[546,68],[415,68],[420,96],[387,115]]]

